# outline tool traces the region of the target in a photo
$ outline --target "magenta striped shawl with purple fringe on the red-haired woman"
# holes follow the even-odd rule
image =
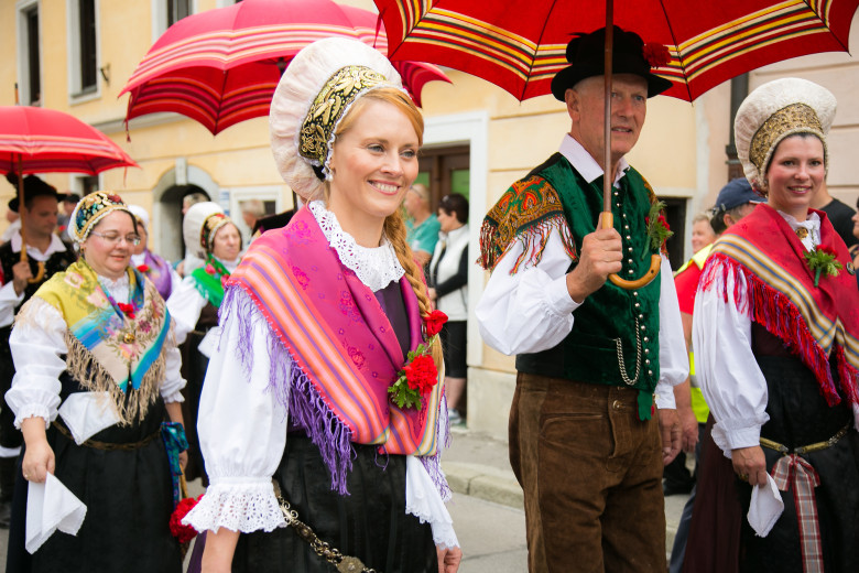
[[[417,298],[407,279],[400,285],[411,345],[423,342]],[[247,296],[237,296],[247,294]],[[350,442],[379,444],[380,452],[424,456],[437,482],[438,412],[444,385],[422,397],[422,408],[400,409],[388,398],[405,357],[373,292],[342,266],[311,210],[302,208],[284,229],[253,241],[227,283],[237,298],[240,324],[250,329],[249,301],[292,359],[290,380],[275,396],[303,426],[331,472],[331,489],[345,495],[351,468]],[[232,307],[232,305],[228,305]],[[239,354],[250,356],[248,332]],[[274,358],[272,358],[274,361]],[[274,375],[273,375],[274,376]]]

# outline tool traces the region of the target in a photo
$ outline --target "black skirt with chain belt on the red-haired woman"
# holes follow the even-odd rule
[[[275,478],[298,519],[344,555],[379,573],[436,573],[428,523],[405,512],[405,456],[354,444],[349,495],[331,490],[328,467],[309,439],[291,434]],[[292,528],[241,534],[233,572],[336,573]]]

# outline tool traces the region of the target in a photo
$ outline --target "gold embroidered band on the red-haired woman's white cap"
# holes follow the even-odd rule
[[[366,66],[341,67],[328,78],[304,118],[298,134],[298,153],[325,165],[328,143],[349,106],[363,91],[387,84],[383,75]]]

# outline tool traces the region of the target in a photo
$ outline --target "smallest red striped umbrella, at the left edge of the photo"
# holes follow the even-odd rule
[[[29,106],[0,106],[0,172],[73,172],[96,175],[132,166],[122,149],[74,116]]]

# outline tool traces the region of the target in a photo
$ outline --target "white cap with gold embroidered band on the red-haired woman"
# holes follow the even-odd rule
[[[357,40],[319,40],[290,62],[269,112],[271,150],[281,176],[303,199],[322,195],[337,126],[358,98],[378,87],[402,89],[400,74],[381,52]]]

